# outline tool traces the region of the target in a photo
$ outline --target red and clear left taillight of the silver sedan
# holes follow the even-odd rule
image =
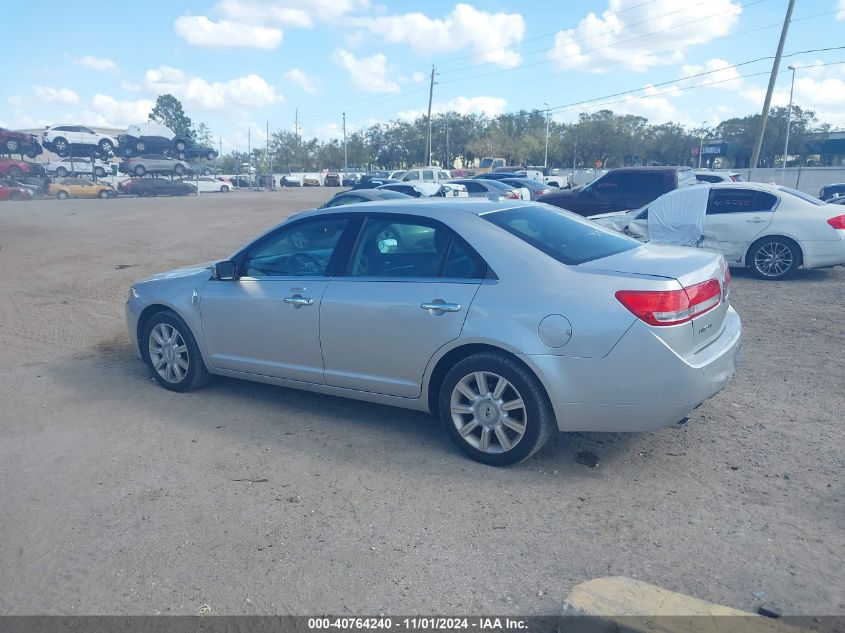
[[[680,290],[620,290],[616,298],[649,325],[678,325],[718,306],[721,295],[719,282],[710,279]]]

